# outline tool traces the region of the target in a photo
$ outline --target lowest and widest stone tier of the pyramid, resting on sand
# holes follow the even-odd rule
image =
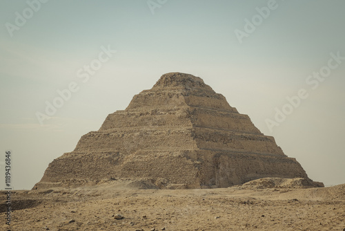
[[[295,158],[286,156],[209,150],[141,151],[129,155],[71,152],[53,160],[34,188],[146,178],[161,189],[196,189],[242,185],[266,177],[311,181]]]

